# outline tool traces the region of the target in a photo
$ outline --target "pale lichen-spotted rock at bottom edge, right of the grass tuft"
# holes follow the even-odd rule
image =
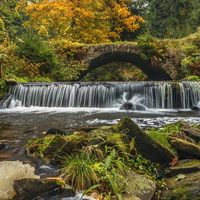
[[[123,199],[126,200],[133,200],[133,199],[140,199],[140,200],[151,200],[155,190],[156,190],[156,183],[151,179],[147,178],[146,176],[137,174],[134,171],[125,176],[127,179],[128,185],[125,188],[127,194],[123,195]],[[134,197],[136,196],[136,197]]]

